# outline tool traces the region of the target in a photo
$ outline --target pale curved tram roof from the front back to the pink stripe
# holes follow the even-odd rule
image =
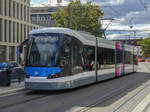
[[[71,30],[69,28],[49,27],[49,28],[32,30],[30,32],[30,34],[37,34],[37,33],[68,34],[70,36],[77,38],[78,40],[80,40],[85,45],[95,46],[95,39],[96,39],[95,36],[93,36],[89,33],[86,33],[86,32]],[[99,38],[99,37],[97,39],[98,39],[98,46],[99,47],[115,49],[115,42],[114,41],[106,40],[106,39]]]

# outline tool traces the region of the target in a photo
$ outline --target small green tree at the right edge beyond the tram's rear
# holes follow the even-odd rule
[[[150,36],[146,39],[139,41],[138,45],[140,45],[142,48],[143,57],[150,57]]]

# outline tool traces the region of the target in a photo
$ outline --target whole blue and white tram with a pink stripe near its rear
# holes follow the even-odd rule
[[[136,71],[132,46],[67,28],[33,30],[23,45],[26,89],[72,89]]]

